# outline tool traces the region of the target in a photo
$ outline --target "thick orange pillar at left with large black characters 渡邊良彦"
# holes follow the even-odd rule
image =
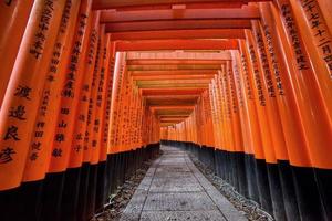
[[[0,190],[18,187],[22,180],[29,151],[27,144],[64,4],[56,0],[39,0],[33,4],[0,110]]]

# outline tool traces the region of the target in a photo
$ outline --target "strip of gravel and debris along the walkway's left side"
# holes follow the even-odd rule
[[[159,156],[160,155],[162,150]],[[157,159],[159,156],[157,156],[155,159]],[[118,187],[117,191],[113,196],[111,196],[110,203],[105,210],[102,213],[96,214],[91,221],[118,221],[123,210],[131,201],[135,190],[155,159],[143,162],[142,167],[133,175],[126,175],[126,181],[123,183],[123,186]]]

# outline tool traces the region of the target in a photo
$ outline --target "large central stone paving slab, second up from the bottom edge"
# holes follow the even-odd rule
[[[176,211],[176,210],[216,210],[217,207],[206,192],[149,192],[143,210]]]

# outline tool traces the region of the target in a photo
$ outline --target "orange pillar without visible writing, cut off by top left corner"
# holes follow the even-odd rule
[[[0,3],[0,107],[19,52],[33,1]],[[10,19],[9,19],[10,18]]]

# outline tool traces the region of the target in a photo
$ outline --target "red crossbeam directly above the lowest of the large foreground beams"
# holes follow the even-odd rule
[[[112,31],[108,31],[112,32]],[[242,29],[199,29],[199,30],[167,30],[167,31],[132,31],[115,32],[113,41],[118,40],[165,40],[165,39],[245,39]]]

